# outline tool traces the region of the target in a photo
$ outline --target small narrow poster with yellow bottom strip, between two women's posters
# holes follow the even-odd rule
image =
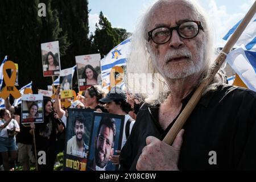
[[[72,72],[73,68],[67,68],[60,71],[60,94],[61,98],[71,98],[72,93]]]

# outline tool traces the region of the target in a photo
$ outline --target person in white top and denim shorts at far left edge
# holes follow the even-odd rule
[[[17,155],[15,135],[19,133],[19,123],[7,109],[0,110],[0,154],[5,171],[14,169]]]

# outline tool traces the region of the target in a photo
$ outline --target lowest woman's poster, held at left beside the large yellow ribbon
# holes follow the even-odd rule
[[[22,95],[22,124],[43,122],[43,95]]]

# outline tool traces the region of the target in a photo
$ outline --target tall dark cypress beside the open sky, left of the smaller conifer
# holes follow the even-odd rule
[[[59,12],[61,34],[67,32],[68,42],[71,43],[67,54],[61,56],[61,68],[70,68],[76,64],[75,56],[90,53],[88,38],[88,1],[87,0],[55,0],[52,8]]]

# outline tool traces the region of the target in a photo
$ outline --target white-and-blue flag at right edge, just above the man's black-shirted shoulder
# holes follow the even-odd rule
[[[256,52],[240,47],[231,51],[226,61],[245,85],[256,92]]]

